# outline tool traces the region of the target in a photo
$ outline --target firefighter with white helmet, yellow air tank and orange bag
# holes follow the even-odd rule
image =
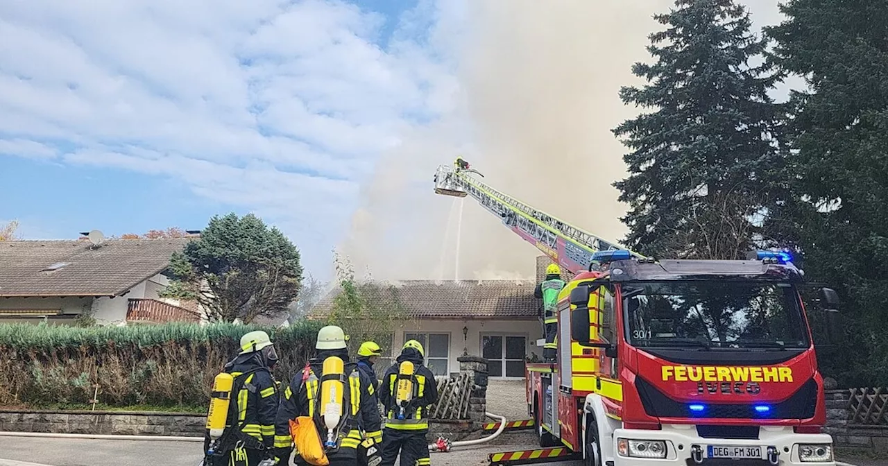
[[[377,393],[351,362],[345,333],[318,331],[316,354],[284,389],[275,421],[274,446],[281,462],[376,466],[382,439]],[[359,458],[359,450],[365,457]]]

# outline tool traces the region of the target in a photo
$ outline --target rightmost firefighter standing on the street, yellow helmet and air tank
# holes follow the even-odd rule
[[[386,411],[380,466],[393,466],[399,451],[400,466],[431,464],[426,408],[438,400],[438,387],[432,371],[423,365],[424,357],[423,345],[409,340],[379,384],[379,400]]]

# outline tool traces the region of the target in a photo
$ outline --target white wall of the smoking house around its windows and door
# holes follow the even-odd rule
[[[468,328],[465,339],[463,328]],[[396,326],[392,343],[394,356],[400,354],[400,348],[404,344],[404,334],[414,332],[450,336],[448,373],[459,371],[459,361],[456,358],[462,356],[464,350],[472,356],[480,356],[480,336],[483,334],[526,336],[526,355],[530,356],[535,352],[537,356],[543,356],[543,349],[535,346],[536,340],[543,337],[543,328],[539,320],[407,320],[399,322]]]

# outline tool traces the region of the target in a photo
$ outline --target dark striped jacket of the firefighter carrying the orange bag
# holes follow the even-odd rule
[[[345,411],[345,424],[338,438],[339,447],[334,453],[328,454],[328,457],[357,458],[357,448],[363,438],[373,438],[377,443],[382,441],[381,416],[372,380],[363,375],[355,363],[349,362],[347,352],[318,351],[317,357],[293,377],[281,394],[281,405],[274,423],[274,446],[276,456],[281,461],[287,461],[293,448],[289,420],[295,420],[298,416],[311,416],[318,425],[321,438],[326,438],[327,430],[320,423],[321,404],[318,392],[321,388],[323,362],[329,356],[337,356],[345,362],[347,386],[344,401],[347,400],[345,405],[348,409]]]

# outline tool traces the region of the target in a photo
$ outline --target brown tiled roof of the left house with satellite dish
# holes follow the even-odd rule
[[[190,240],[2,241],[0,296],[121,296]]]

